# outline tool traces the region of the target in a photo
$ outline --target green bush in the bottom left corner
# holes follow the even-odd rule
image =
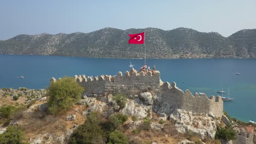
[[[24,133],[21,128],[16,126],[9,126],[7,131],[0,134],[0,144],[20,144],[24,140]]]

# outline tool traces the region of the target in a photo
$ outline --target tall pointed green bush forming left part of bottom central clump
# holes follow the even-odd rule
[[[86,122],[74,130],[69,143],[105,143],[106,138],[100,124],[102,117],[97,112],[92,112]]]

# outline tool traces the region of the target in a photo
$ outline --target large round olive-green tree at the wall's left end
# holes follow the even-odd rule
[[[60,110],[66,111],[68,107],[81,99],[82,92],[84,92],[84,88],[72,77],[65,77],[50,83],[47,90],[50,95],[49,111],[53,114]]]

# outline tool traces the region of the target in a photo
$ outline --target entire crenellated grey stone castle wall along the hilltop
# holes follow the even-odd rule
[[[129,95],[139,94],[141,92],[154,92],[160,103],[167,103],[171,109],[183,109],[195,113],[213,113],[216,117],[222,117],[223,113],[223,101],[220,96],[215,98],[213,95],[208,97],[203,94],[191,94],[187,89],[183,92],[181,89],[176,87],[176,83],[163,83],[160,79],[160,72],[155,71],[152,74],[148,71],[147,75],[143,71],[137,73],[135,69],[130,72],[126,71],[125,75],[121,72],[118,75],[101,75],[99,77],[88,77],[85,75],[75,75],[74,79],[85,87],[85,94],[87,95],[108,95],[123,93]],[[53,77],[51,82],[56,81]],[[162,101],[162,102],[161,102]]]

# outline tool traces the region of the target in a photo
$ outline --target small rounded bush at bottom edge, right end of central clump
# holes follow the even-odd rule
[[[129,141],[122,131],[115,130],[109,134],[108,144],[115,144],[115,143],[128,144]]]

